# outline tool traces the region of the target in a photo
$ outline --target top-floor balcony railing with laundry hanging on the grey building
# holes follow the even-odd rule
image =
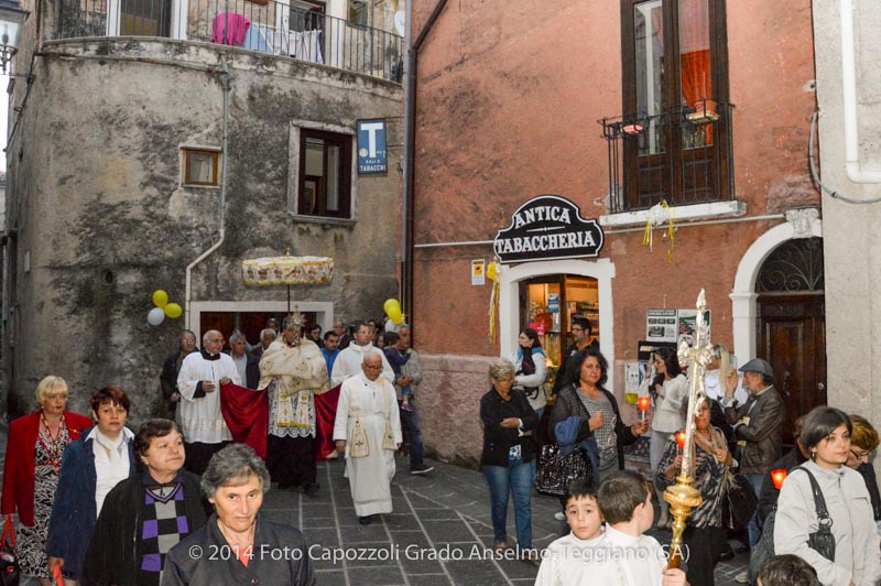
[[[238,46],[401,83],[403,39],[274,0],[61,0],[55,39],[160,36]]]

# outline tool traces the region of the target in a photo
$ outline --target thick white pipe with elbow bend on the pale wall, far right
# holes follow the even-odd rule
[[[841,0],[841,93],[845,109],[845,166],[853,183],[881,183],[881,171],[860,169],[857,123],[857,55],[853,36],[853,1]]]

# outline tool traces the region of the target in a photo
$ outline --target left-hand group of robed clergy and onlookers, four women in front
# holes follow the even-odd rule
[[[39,410],[10,424],[4,463],[2,513],[8,524],[19,516],[21,572],[68,586],[221,584],[230,576],[236,584],[315,584],[300,531],[259,512],[271,482],[314,496],[316,462],[345,457],[356,514],[368,524],[392,511],[403,432],[411,474],[433,469],[423,462],[422,371],[410,328],[390,326],[383,349],[373,344],[378,333],[376,323],[356,323],[349,335],[337,322],[322,336],[291,315],[270,319],[253,346],[230,333],[224,351],[219,330],[205,332],[200,347],[184,330],[160,375],[174,421],[149,420],[137,433],[126,425],[131,400],[122,389],[96,391],[88,417],[67,411],[62,378],[43,379]],[[188,553],[219,544],[236,555],[211,563]],[[279,562],[255,554],[275,546],[301,555]]]

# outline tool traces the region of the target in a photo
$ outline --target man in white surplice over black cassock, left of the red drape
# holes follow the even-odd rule
[[[220,386],[242,384],[242,380],[236,362],[222,349],[224,335],[209,329],[202,337],[202,350],[187,355],[177,375],[185,466],[197,475],[205,471],[215,453],[232,441],[220,412]]]

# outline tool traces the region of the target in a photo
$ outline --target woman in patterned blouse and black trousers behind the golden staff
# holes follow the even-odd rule
[[[701,401],[695,413],[695,488],[704,499],[700,507],[688,517],[683,542],[688,560],[688,582],[692,586],[714,586],[714,568],[725,545],[722,529],[722,501],[725,471],[733,464],[725,434],[710,425],[710,410]],[[682,436],[679,436],[682,434]],[[655,487],[663,490],[675,482],[682,471],[685,434],[679,432],[667,440],[659,463]]]

